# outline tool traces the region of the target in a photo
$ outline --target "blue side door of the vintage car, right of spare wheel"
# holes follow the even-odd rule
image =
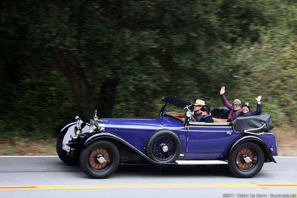
[[[228,122],[189,122],[185,157],[223,157],[230,144],[232,125]]]

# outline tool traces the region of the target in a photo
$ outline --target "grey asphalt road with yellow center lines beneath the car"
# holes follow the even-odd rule
[[[227,167],[119,165],[96,180],[59,157],[0,156],[0,197],[297,197],[297,158],[275,159],[248,179]]]

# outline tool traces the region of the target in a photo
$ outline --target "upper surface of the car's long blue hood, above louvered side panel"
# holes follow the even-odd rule
[[[132,128],[132,129],[163,129],[164,126],[155,119],[132,118],[132,119],[101,119],[108,128]]]

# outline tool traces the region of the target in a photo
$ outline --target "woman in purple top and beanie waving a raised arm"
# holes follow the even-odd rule
[[[239,99],[235,99],[233,100],[232,104],[230,104],[227,99],[225,98],[225,86],[222,86],[221,91],[220,91],[220,95],[221,95],[221,100],[223,102],[223,104],[230,109],[230,113],[228,115],[228,119],[227,122],[232,122],[236,115],[242,111],[240,103],[241,101]]]

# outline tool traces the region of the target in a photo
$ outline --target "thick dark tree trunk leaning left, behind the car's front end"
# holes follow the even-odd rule
[[[72,86],[80,113],[79,116],[86,121],[89,120],[94,116],[95,98],[80,63],[67,49],[59,49],[53,52],[52,56]]]

